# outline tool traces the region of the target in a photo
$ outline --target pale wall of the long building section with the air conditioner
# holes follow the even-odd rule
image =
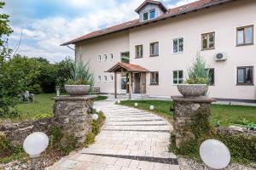
[[[172,71],[183,70],[186,74],[195,54],[201,49],[201,34],[215,31],[215,49],[201,51],[207,65],[215,69],[215,85],[210,87],[210,97],[224,99],[256,99],[256,88],[236,85],[236,67],[254,66],[256,81],[256,48],[254,45],[236,47],[236,27],[254,25],[256,2],[245,0],[207,8],[196,13],[178,16],[130,32],[131,63],[142,65],[150,71],[159,71],[159,85],[149,85],[148,95],[179,95],[172,84]],[[148,36],[150,35],[150,36]],[[184,52],[172,54],[172,39],[183,37]],[[254,34],[254,41],[255,41]],[[160,42],[160,55],[149,57],[149,43]],[[143,58],[135,59],[135,46],[143,44]],[[224,52],[228,59],[216,62],[214,54]],[[255,82],[254,82],[255,83]]]

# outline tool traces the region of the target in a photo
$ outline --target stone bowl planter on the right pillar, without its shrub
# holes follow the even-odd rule
[[[178,84],[177,89],[184,98],[199,97],[207,94],[207,84]]]

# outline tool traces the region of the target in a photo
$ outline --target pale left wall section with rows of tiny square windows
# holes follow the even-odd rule
[[[112,34],[108,37],[99,37],[89,41],[79,42],[75,46],[76,59],[82,59],[84,63],[90,62],[90,68],[95,73],[95,87],[101,88],[101,93],[114,92],[114,80],[110,82],[109,68],[120,61],[120,53],[129,51],[129,36],[127,31]],[[104,54],[108,59],[104,60]],[[110,59],[113,54],[113,60]],[[102,56],[102,61],[98,61],[98,55]],[[102,82],[98,82],[98,76],[102,77]],[[108,77],[108,81],[104,82],[104,76]],[[114,75],[113,75],[114,76]],[[120,75],[117,77],[118,93],[120,93]]]

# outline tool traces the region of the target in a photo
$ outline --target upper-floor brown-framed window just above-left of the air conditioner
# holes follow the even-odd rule
[[[215,48],[215,32],[201,35],[201,49],[213,49]]]

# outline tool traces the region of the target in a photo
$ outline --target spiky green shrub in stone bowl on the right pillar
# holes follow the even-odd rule
[[[209,70],[206,69],[206,61],[198,52],[193,65],[188,69],[189,78],[184,84],[177,85],[179,93],[183,97],[199,97],[207,94],[208,85],[211,82]]]

